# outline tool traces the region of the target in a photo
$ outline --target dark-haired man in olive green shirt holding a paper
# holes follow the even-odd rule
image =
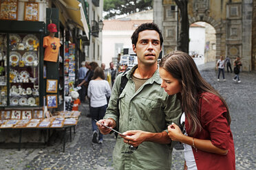
[[[157,60],[162,50],[162,34],[156,24],[144,23],[131,40],[138,65],[116,77],[106,115],[100,123],[127,135],[117,138],[113,153],[115,169],[171,169],[172,147],[167,126],[179,123],[182,110],[176,96],[169,96],[160,88]],[[128,82],[119,95],[122,76]],[[111,130],[100,123],[100,132],[109,134]],[[129,145],[138,149],[134,151]]]

